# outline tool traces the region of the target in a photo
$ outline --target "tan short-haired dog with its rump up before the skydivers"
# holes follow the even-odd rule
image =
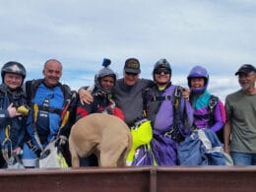
[[[104,113],[79,119],[69,137],[73,167],[79,166],[79,158],[91,154],[96,155],[99,166],[124,166],[131,146],[132,136],[125,122]]]

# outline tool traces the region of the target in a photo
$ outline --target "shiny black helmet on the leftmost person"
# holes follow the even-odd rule
[[[16,61],[10,61],[4,64],[1,70],[2,81],[4,82],[4,76],[6,73],[13,73],[21,75],[23,80],[26,78],[26,69],[25,67]]]

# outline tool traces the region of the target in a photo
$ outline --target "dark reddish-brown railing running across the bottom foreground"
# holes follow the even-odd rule
[[[255,192],[256,167],[0,169],[0,191]]]

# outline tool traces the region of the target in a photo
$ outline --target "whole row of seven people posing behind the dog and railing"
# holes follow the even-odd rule
[[[253,65],[244,64],[238,69],[235,75],[241,90],[226,96],[223,103],[207,91],[209,74],[202,66],[191,69],[187,76],[189,89],[184,89],[171,84],[172,70],[166,59],[154,65],[153,80],[139,77],[140,62],[136,58],[125,61],[121,79],[117,79],[110,63],[104,59],[95,85],[78,92],[60,83],[62,64],[58,60],[45,62],[43,79],[27,82],[21,63],[6,63],[0,86],[0,167],[8,167],[19,158],[25,167],[37,167],[41,152],[52,140],[57,140],[71,165],[70,129],[77,120],[95,112],[116,115],[129,127],[143,118],[149,119],[154,164],[179,164],[179,145],[195,129],[217,133],[234,164],[256,164]],[[96,157],[81,159],[81,165],[97,165]]]

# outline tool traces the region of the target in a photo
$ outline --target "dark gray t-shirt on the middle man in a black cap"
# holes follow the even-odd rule
[[[143,116],[143,92],[151,86],[153,81],[138,79],[134,86],[124,84],[124,79],[119,79],[114,88],[114,101],[116,106],[122,109],[125,122],[130,127],[137,118]]]

